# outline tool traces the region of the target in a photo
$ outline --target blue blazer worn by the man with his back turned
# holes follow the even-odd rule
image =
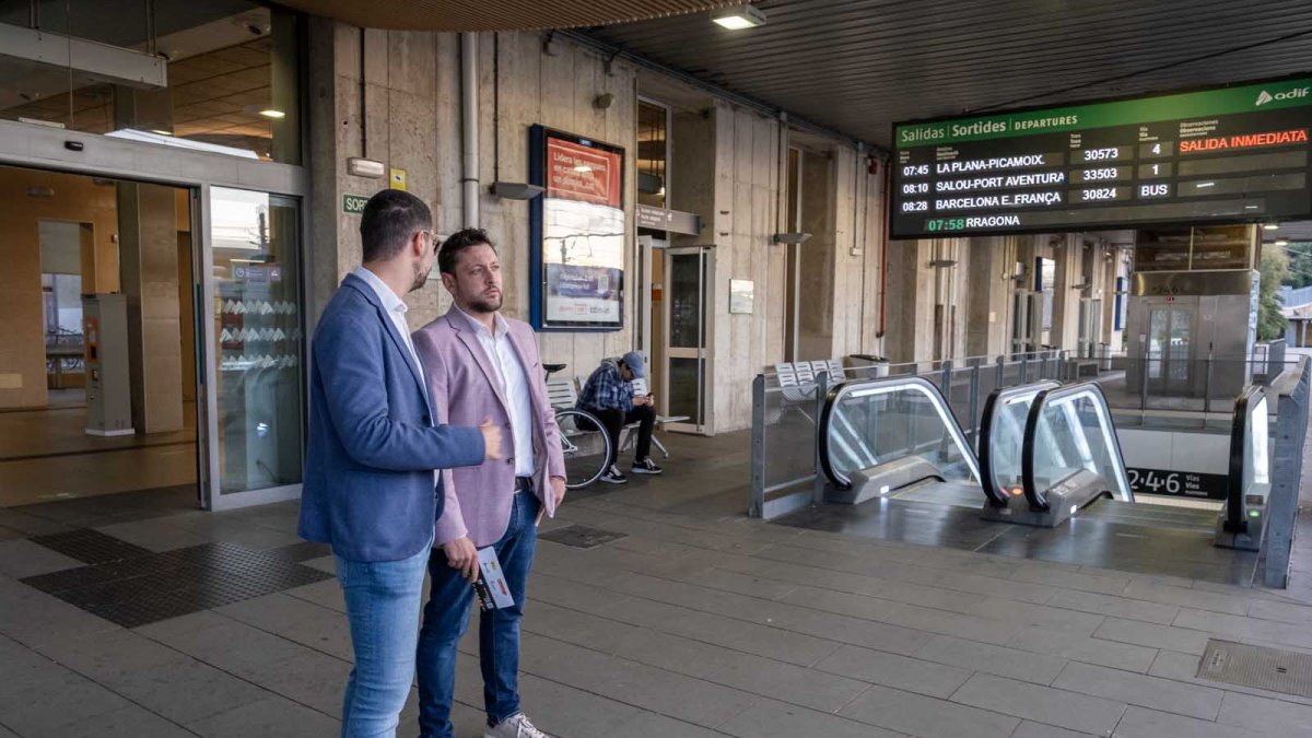
[[[475,466],[484,453],[478,428],[436,425],[436,415],[378,294],[348,274],[311,344],[300,537],[349,561],[422,550],[445,499],[433,470]]]

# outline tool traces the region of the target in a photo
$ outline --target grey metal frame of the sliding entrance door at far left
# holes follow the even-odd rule
[[[224,156],[164,144],[109,138],[14,121],[0,121],[0,165],[164,184],[190,190],[193,294],[197,295],[197,490],[203,510],[232,510],[298,499],[300,485],[223,495],[219,490],[218,365],[213,361],[214,247],[209,236],[210,186],[268,192],[300,200],[300,311],[304,349],[310,351],[308,305],[314,274],[310,248],[310,172],[306,167]],[[302,364],[306,366],[306,364]],[[308,382],[302,407],[308,408]],[[302,418],[302,424],[306,419]],[[302,428],[304,433],[304,428]],[[304,435],[302,435],[304,437]]]

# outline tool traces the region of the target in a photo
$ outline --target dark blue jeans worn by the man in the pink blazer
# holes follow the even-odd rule
[[[479,615],[479,661],[488,725],[520,712],[520,620],[529,569],[533,567],[533,549],[538,541],[538,529],[533,523],[541,504],[531,490],[517,492],[505,536],[493,544],[514,605],[480,611]],[[433,549],[428,573],[432,591],[424,605],[424,628],[419,636],[420,738],[451,738],[457,646],[470,625],[474,586],[447,566],[442,549]]]

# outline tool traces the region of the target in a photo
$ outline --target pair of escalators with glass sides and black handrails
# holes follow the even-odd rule
[[[1270,479],[1258,387],[1236,402],[1232,492],[1219,517],[1212,508],[1162,498],[1136,502],[1097,382],[996,390],[984,404],[977,454],[938,387],[920,377],[837,385],[819,427],[829,503],[938,506],[964,528],[972,527],[968,517],[1038,528],[1077,517],[1085,528],[1098,521],[1123,537],[1149,534],[1128,531],[1144,528],[1215,534],[1218,546],[1244,550],[1261,542]]]

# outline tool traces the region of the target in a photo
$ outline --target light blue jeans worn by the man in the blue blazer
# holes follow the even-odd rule
[[[341,705],[342,738],[396,735],[415,678],[415,642],[430,546],[400,561],[337,557],[356,667]]]

